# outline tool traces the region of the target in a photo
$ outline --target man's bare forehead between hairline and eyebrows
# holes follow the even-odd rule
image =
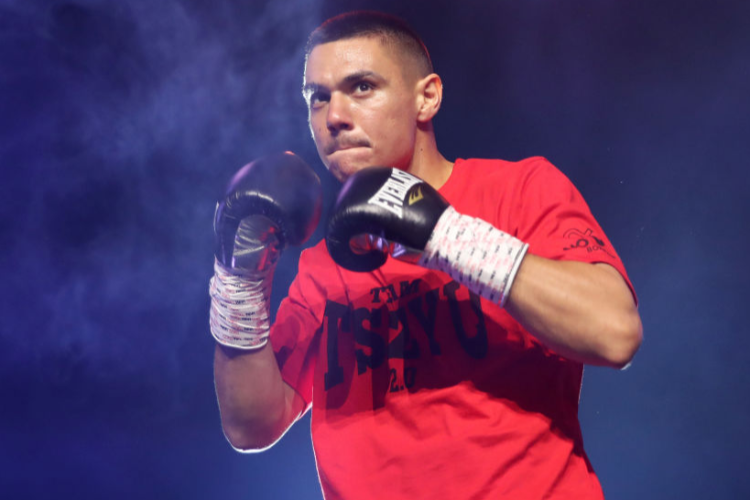
[[[307,58],[305,83],[334,85],[349,74],[363,71],[394,77],[401,74],[398,63],[393,50],[378,36],[323,43]]]

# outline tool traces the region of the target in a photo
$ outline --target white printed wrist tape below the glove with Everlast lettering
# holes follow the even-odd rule
[[[447,273],[480,297],[505,306],[529,245],[492,224],[448,207],[419,265]]]

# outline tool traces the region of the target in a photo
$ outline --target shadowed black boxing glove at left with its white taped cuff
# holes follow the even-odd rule
[[[270,332],[273,272],[288,245],[300,245],[320,219],[322,189],[315,172],[292,153],[242,167],[214,216],[211,333],[239,349],[264,346]]]

